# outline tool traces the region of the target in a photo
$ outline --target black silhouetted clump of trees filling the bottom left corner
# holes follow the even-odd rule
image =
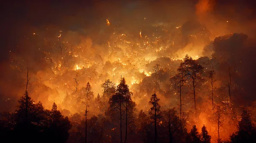
[[[61,114],[55,103],[51,110],[47,110],[40,101],[35,103],[28,94],[20,99],[15,113],[4,113],[0,118],[3,143],[66,143],[70,129],[70,121]]]

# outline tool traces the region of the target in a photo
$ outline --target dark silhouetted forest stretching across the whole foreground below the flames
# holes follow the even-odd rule
[[[197,60],[188,55],[180,63],[178,73],[170,77],[171,88],[179,95],[179,105],[174,108],[162,107],[157,97],[160,89],[159,79],[164,73],[160,65],[152,70],[152,82],[155,84],[148,105],[148,111],[137,111],[132,100],[133,93],[121,76],[116,86],[109,79],[101,84],[102,95],[94,98],[92,87],[87,82],[81,89],[75,86],[72,97],[76,104],[84,104],[84,115],[75,113],[69,118],[62,115],[55,102],[52,109],[44,109],[41,101],[35,103],[28,93],[29,70],[27,70],[26,91],[20,98],[15,112],[1,112],[0,135],[4,142],[38,142],[38,143],[211,143],[211,135],[207,126],[196,126],[198,112],[196,85],[208,83],[209,100],[208,119],[210,126],[218,128],[218,143],[255,143],[256,126],[251,119],[250,108],[241,108],[241,115],[234,111],[230,86],[225,94],[216,96],[215,71],[207,72]],[[77,83],[77,82],[76,82]],[[229,84],[227,84],[229,85]],[[183,90],[192,89],[194,107],[189,112],[183,112]],[[220,87],[222,88],[222,87]],[[176,93],[175,93],[176,94]],[[221,97],[222,96],[222,97]],[[80,102],[80,103],[79,103]],[[91,109],[99,108],[99,114],[94,115]],[[199,110],[199,111],[198,111]],[[90,116],[88,116],[90,115]],[[90,118],[89,118],[90,117]],[[230,140],[222,140],[219,130],[229,120],[237,124],[237,131],[230,135]],[[195,121],[195,122],[193,122]],[[192,126],[187,129],[187,126]],[[225,134],[225,133],[221,133]]]

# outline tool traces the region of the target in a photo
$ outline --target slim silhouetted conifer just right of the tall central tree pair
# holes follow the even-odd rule
[[[149,104],[151,105],[151,108],[149,110],[149,115],[151,120],[154,121],[154,130],[155,130],[155,143],[157,143],[157,122],[161,118],[161,113],[160,113],[160,104],[158,103],[160,99],[157,98],[157,95],[154,93],[151,95]]]

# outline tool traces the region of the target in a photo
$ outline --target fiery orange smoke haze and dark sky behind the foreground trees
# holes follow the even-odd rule
[[[5,3],[1,109],[15,109],[25,90],[27,66],[31,76],[29,95],[45,107],[55,101],[73,113],[78,109],[63,103],[74,90],[73,78],[78,79],[79,88],[89,81],[96,96],[102,93],[100,84],[105,79],[118,83],[120,75],[134,93],[137,108],[147,110],[154,89],[149,75],[152,67],[160,64],[160,104],[177,106],[169,78],[177,73],[179,59],[186,54],[194,59],[208,56],[198,62],[217,70],[218,86],[227,84],[226,67],[234,69],[236,65],[233,99],[237,106],[250,104],[255,100],[253,5],[239,0]],[[106,25],[106,19],[111,25]],[[59,49],[62,44],[63,53]],[[197,92],[199,104],[207,101],[207,93]],[[189,88],[184,94],[188,99],[184,109],[191,109]]]

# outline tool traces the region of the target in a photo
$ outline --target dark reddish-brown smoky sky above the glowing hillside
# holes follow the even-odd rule
[[[83,28],[89,31],[94,27],[99,32],[101,24],[106,19],[115,24],[125,22],[125,28],[129,29],[135,20],[144,16],[152,23],[174,21],[184,23],[190,17],[195,17],[195,5],[198,0],[180,0],[178,4],[177,1],[6,0],[0,6],[0,64],[9,60],[9,50],[15,50],[20,37],[31,35],[30,31],[33,28],[44,29],[52,25],[59,30],[79,31]],[[255,35],[256,2],[254,0],[213,0],[213,2],[212,14],[215,20],[234,21],[238,26],[233,25],[233,31],[244,28]],[[183,8],[179,8],[180,5]],[[86,30],[82,32],[84,35],[90,34]],[[96,39],[97,36],[93,38]]]

